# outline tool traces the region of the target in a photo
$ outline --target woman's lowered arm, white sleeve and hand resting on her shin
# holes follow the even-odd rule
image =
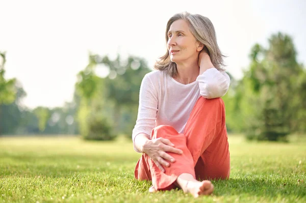
[[[155,128],[155,120],[158,110],[158,92],[156,86],[158,82],[152,82],[146,75],[140,86],[139,108],[136,125],[133,129],[134,150],[147,154],[155,164],[165,171],[163,166],[169,167],[169,162],[175,159],[166,152],[182,154],[179,149],[174,148],[174,144],[165,138],[150,139],[150,134]],[[167,162],[167,161],[169,162]]]

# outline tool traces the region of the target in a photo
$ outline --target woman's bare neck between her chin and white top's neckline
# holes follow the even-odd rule
[[[194,82],[199,75],[199,66],[197,61],[194,63],[176,64],[176,68],[177,75],[173,78],[183,84]]]

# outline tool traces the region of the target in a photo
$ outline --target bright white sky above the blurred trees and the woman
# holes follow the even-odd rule
[[[227,70],[239,79],[254,43],[267,45],[278,31],[293,37],[306,64],[306,1],[5,1],[0,0],[0,51],[7,78],[16,77],[24,105],[62,106],[71,101],[88,53],[144,57],[150,67],[165,52],[165,26],[188,11],[213,22]]]

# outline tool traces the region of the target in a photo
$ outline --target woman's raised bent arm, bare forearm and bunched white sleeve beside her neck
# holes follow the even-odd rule
[[[214,68],[206,52],[199,55],[200,74],[197,77],[200,95],[207,99],[222,97],[230,87],[230,76],[225,71]]]

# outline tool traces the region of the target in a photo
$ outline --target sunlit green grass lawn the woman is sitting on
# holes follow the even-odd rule
[[[230,136],[231,177],[212,196],[148,193],[134,179],[132,142],[75,137],[0,138],[0,202],[306,202],[306,143]]]

